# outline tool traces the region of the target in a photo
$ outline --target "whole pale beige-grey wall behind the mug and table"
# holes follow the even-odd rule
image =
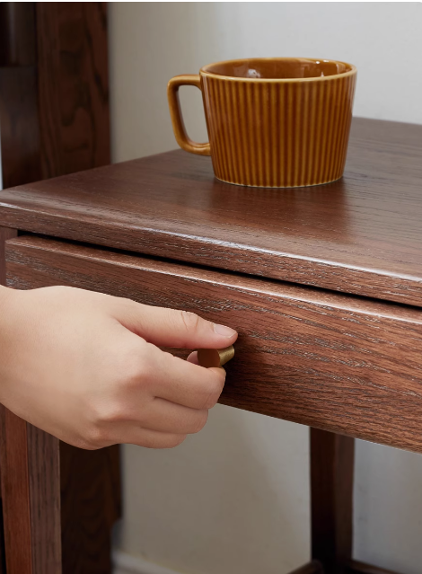
[[[167,81],[232,57],[352,62],[355,115],[422,123],[421,24],[422,4],[409,3],[110,4],[113,159],[176,147]],[[198,90],[182,101],[190,136],[206,140]],[[308,448],[307,428],[223,406],[176,450],[126,446],[116,548],[187,574],[300,566]],[[355,526],[356,558],[420,574],[422,456],[357,442]]]

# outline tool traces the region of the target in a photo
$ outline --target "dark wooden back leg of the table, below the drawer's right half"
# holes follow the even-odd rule
[[[311,428],[312,558],[345,574],[352,558],[355,441]]]

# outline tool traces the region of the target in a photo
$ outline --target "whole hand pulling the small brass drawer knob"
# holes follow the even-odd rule
[[[179,445],[224,387],[155,345],[218,349],[236,331],[193,313],[73,287],[0,287],[0,402],[74,446]]]

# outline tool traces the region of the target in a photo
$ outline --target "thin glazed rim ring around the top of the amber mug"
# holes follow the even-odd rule
[[[209,72],[207,68],[210,66],[219,66],[220,64],[242,64],[242,62],[248,62],[250,60],[309,60],[310,62],[332,62],[334,64],[344,64],[345,66],[350,66],[350,70],[347,72],[341,72],[340,74],[332,74],[332,75],[317,75],[310,78],[244,78],[234,75],[223,75],[223,74],[215,74],[215,72]],[[221,78],[224,80],[230,80],[231,82],[270,82],[270,83],[292,83],[292,82],[323,82],[327,80],[333,80],[338,77],[347,77],[349,75],[354,75],[357,73],[357,68],[353,64],[349,64],[348,62],[343,62],[341,60],[329,60],[327,58],[317,58],[317,57],[240,57],[234,58],[232,60],[222,60],[220,62],[213,62],[212,64],[207,64],[206,66],[202,66],[199,70],[200,75],[209,75],[214,78]]]

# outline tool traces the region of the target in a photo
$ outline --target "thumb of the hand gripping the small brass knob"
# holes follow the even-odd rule
[[[180,349],[223,349],[237,339],[237,332],[225,325],[202,319],[196,313],[141,305],[131,301],[124,317],[117,317],[127,329],[154,345]]]

